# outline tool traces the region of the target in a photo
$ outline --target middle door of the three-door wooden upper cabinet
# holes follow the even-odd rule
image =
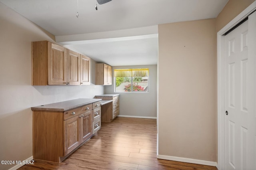
[[[80,85],[80,54],[67,50],[67,83]]]

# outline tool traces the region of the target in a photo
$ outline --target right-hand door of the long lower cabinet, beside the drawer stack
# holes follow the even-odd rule
[[[92,136],[92,111],[88,111],[82,114],[81,132],[81,142],[84,142],[90,138],[90,136]]]

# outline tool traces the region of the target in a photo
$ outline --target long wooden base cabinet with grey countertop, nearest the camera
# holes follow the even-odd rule
[[[56,103],[60,107],[54,107],[53,103],[31,108],[34,159],[61,162],[100,130],[100,100],[75,99],[70,102],[76,101],[90,104],[66,111],[62,111],[65,110],[62,106],[65,107],[69,101]]]

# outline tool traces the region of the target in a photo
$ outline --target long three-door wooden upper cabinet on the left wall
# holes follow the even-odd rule
[[[51,42],[33,42],[32,85],[90,84],[90,58],[84,58]]]

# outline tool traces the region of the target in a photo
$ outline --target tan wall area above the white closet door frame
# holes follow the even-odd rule
[[[216,18],[216,31],[220,31],[255,0],[229,0]]]

